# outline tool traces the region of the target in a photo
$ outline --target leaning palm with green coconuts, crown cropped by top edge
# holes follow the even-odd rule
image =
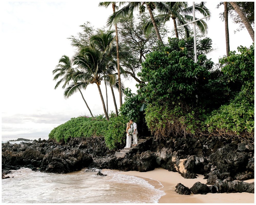
[[[155,4],[156,2],[150,2],[150,3]],[[115,12],[113,15],[111,15],[108,18],[107,26],[111,26],[112,23],[114,24],[118,23],[120,19],[123,17],[129,17],[130,19],[133,19],[133,11],[138,10],[139,7],[144,4],[146,4],[146,2],[129,2],[128,5],[124,6],[122,9]],[[150,19],[152,21],[153,27],[156,31],[157,39],[163,44],[150,4],[147,4],[147,9],[150,14]]]

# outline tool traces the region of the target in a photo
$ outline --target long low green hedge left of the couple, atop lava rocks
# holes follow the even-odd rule
[[[64,124],[51,130],[50,139],[58,142],[62,139],[67,142],[68,138],[74,137],[100,137],[105,138],[106,146],[113,150],[123,145],[126,140],[126,123],[129,120],[124,116],[110,117],[107,121],[103,115],[97,117],[71,118]]]

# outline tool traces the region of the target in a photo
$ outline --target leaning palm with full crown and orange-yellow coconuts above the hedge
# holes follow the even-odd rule
[[[76,79],[86,84],[92,83],[97,84],[104,114],[107,120],[109,120],[108,113],[106,111],[105,102],[101,92],[101,81],[105,80],[107,77],[108,81],[113,85],[115,82],[114,74],[106,74],[109,73],[106,71],[106,64],[111,60],[111,56],[108,53],[103,53],[95,48],[93,44],[90,47],[85,47],[81,49],[80,55],[76,56],[74,59],[74,63],[79,66],[79,70],[77,69],[74,73]]]

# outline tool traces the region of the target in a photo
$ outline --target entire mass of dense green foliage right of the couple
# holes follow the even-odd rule
[[[220,59],[223,68],[218,70],[205,55],[194,63],[188,41],[169,41],[174,43],[147,55],[139,73],[146,82],[139,98],[148,104],[146,122],[154,135],[252,137],[254,46]]]

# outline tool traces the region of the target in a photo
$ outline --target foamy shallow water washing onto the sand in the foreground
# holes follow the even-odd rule
[[[67,174],[13,170],[2,179],[2,203],[157,203],[165,195],[156,180],[82,169]]]

